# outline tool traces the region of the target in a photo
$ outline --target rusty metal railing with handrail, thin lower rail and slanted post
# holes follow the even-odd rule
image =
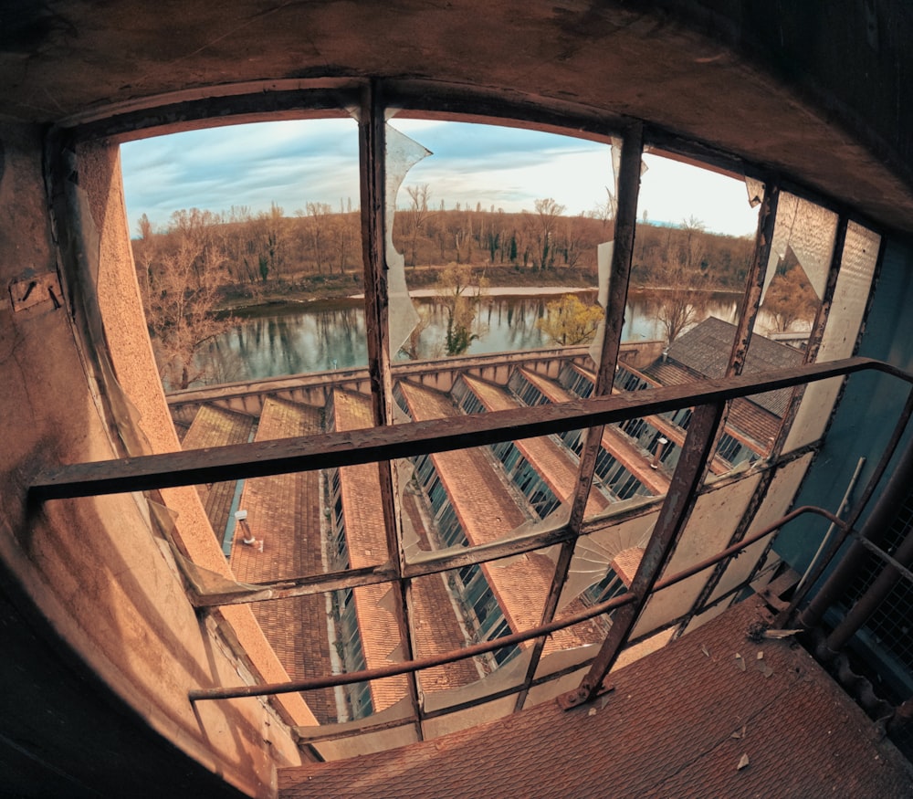
[[[568,429],[602,426],[635,416],[659,414],[681,407],[695,406],[695,415],[692,425],[689,426],[685,447],[683,447],[682,456],[673,476],[672,485],[647,544],[641,567],[635,574],[631,587],[624,594],[579,613],[567,615],[560,621],[551,621],[549,624],[532,627],[493,641],[479,643],[435,657],[411,659],[383,668],[365,669],[281,684],[194,689],[189,693],[189,698],[194,702],[204,699],[233,699],[331,688],[365,680],[414,673],[421,669],[445,665],[467,657],[476,657],[501,647],[512,647],[530,639],[547,636],[597,615],[618,611],[619,613],[615,614],[609,636],[603,642],[599,654],[593,658],[590,671],[583,679],[581,686],[564,697],[565,706],[571,707],[593,699],[593,696],[603,689],[603,678],[612,668],[618,653],[625,646],[637,616],[651,594],[685,580],[715,563],[731,558],[751,543],[778,530],[796,516],[813,512],[832,521],[839,532],[834,536],[824,557],[819,559],[813,571],[809,573],[808,579],[803,584],[803,591],[793,598],[791,611],[794,611],[802,602],[805,592],[824,573],[827,564],[834,558],[834,554],[843,545],[847,536],[855,534],[855,523],[875,493],[879,481],[883,478],[906,429],[909,417],[913,414],[913,391],[908,393],[906,405],[887,447],[869,478],[862,497],[855,503],[847,520],[841,521],[824,509],[803,507],[792,511],[791,514],[768,528],[752,533],[738,543],[718,552],[707,561],[695,563],[687,570],[663,580],[659,580],[658,575],[665,567],[672,543],[675,541],[678,531],[687,521],[695,501],[703,469],[719,427],[722,405],[728,400],[750,394],[789,388],[862,371],[887,373],[908,384],[913,384],[913,375],[886,363],[867,358],[848,358],[830,363],[809,364],[795,369],[765,372],[760,375],[743,374],[719,380],[705,380],[698,384],[660,387],[648,393],[613,394],[556,405],[491,412],[471,418],[447,418],[331,433],[323,436],[305,436],[233,447],[214,447],[63,466],[38,475],[28,490],[28,499],[34,503],[49,499],[163,489],[229,479],[264,477],[292,471],[352,466],[465,447],[478,447],[500,441],[545,436]],[[529,548],[530,543],[525,542],[520,546]],[[499,552],[495,556],[506,557],[509,553],[509,549],[506,549],[505,552]],[[489,559],[491,558],[485,558],[485,560]],[[426,568],[425,573],[442,571],[444,568],[446,565],[436,564],[431,568]],[[369,578],[370,582],[383,582],[390,579],[403,579],[404,576],[412,575],[378,573],[369,575]],[[344,580],[344,573],[338,575],[337,579]],[[323,585],[321,587],[323,590],[331,590],[337,586]]]

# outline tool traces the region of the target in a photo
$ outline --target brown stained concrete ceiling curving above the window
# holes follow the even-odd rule
[[[895,42],[913,26],[901,3],[876,18],[875,46],[859,4],[835,4],[833,19],[782,3],[760,17],[747,10],[756,4],[725,0],[665,5],[19,3],[0,11],[0,118],[66,126],[175,92],[405,80],[429,94],[650,121],[913,231],[913,124],[901,110],[911,58]],[[835,49],[844,39],[851,52]]]

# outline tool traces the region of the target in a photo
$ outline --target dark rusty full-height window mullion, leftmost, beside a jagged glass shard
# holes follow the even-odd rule
[[[393,378],[390,370],[390,326],[387,306],[386,231],[386,121],[383,100],[376,80],[364,89],[359,120],[359,150],[362,159],[362,258],[364,260],[364,315],[368,339],[368,375],[371,382],[371,407],[375,426],[394,423]],[[399,534],[396,487],[390,461],[379,461],[383,526],[387,552],[398,579],[392,583],[395,594],[396,626],[403,643],[404,659],[415,657],[408,623],[408,580],[403,577],[404,549]],[[409,699],[415,715],[415,729],[422,739],[422,725],[415,672],[408,677]]]

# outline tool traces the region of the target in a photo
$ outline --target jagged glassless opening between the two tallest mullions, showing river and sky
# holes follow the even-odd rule
[[[402,114],[395,124],[434,154],[409,173],[393,229],[421,317],[394,357],[590,342],[599,316],[595,246],[614,217],[615,148]]]

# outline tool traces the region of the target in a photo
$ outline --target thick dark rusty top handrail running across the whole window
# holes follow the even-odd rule
[[[864,370],[876,370],[908,383],[913,382],[913,375],[887,363],[871,358],[845,358],[775,370],[760,376],[703,380],[649,392],[492,411],[463,418],[432,419],[321,436],[280,438],[61,466],[38,474],[28,489],[28,499],[42,502],[47,499],[195,486],[220,480],[267,477],[479,447],[500,441],[548,436],[575,427],[606,425],[635,416],[659,414],[688,405],[704,405]]]

